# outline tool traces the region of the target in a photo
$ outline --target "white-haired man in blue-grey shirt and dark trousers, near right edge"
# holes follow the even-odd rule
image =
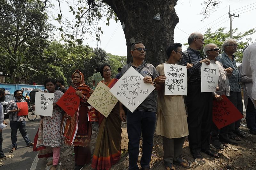
[[[231,67],[233,69],[232,75],[228,78],[230,86],[229,100],[236,106],[239,112],[243,115],[243,101],[240,85],[240,73],[236,66],[236,60],[234,53],[237,50],[236,39],[228,38],[222,44],[222,50],[224,51],[216,60],[219,61],[225,69]],[[238,120],[229,125],[228,137],[230,139],[241,141],[241,139],[235,135],[235,133],[241,137],[247,137],[242,131],[239,130],[241,120]]]

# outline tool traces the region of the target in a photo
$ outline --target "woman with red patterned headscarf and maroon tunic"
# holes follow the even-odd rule
[[[87,118],[89,110],[87,100],[90,97],[91,89],[85,85],[84,75],[79,70],[72,74],[72,82],[76,89],[76,95],[81,99],[80,105],[74,116],[65,115],[62,130],[64,130],[63,136],[66,137],[65,143],[74,146],[75,170],[80,170],[85,164],[91,162],[92,124]]]

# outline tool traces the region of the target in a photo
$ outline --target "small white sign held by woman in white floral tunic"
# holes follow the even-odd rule
[[[51,116],[54,93],[36,93],[35,115]]]

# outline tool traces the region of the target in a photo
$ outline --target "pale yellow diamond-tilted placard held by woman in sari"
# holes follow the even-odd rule
[[[109,90],[110,88],[100,81],[90,98],[87,100],[90,105],[105,117],[108,117],[118,102],[118,99]]]

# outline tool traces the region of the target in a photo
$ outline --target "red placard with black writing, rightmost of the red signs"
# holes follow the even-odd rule
[[[244,117],[225,95],[221,97],[221,101],[213,100],[212,105],[212,121],[219,129]]]

